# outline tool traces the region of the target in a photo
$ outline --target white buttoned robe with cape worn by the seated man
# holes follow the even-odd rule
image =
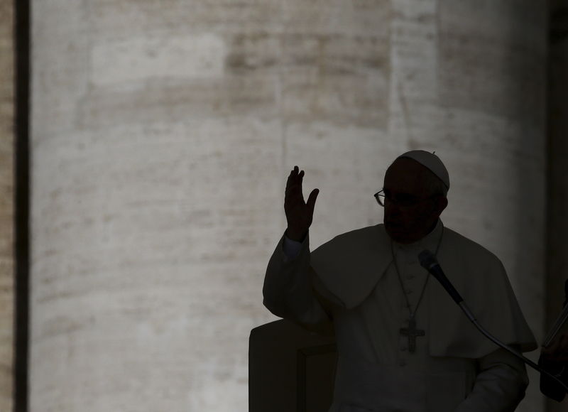
[[[437,259],[480,324],[523,351],[537,347],[501,261],[443,229]],[[408,307],[383,224],[339,235],[310,253],[285,235],[268,263],[263,303],[310,330],[332,332],[338,364],[329,412],[505,412],[525,395],[525,365],[476,330],[437,280],[418,263],[434,252],[442,222],[395,256],[416,326],[425,336],[408,351]]]

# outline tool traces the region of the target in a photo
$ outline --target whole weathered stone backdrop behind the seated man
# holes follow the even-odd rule
[[[13,39],[0,1],[4,410]],[[415,148],[446,164],[444,224],[501,258],[541,342],[568,277],[563,10],[31,1],[29,411],[246,411],[249,332],[275,320],[261,289],[288,173],[305,170],[306,197],[320,188],[313,250],[382,222],[373,193]],[[545,411],[529,374],[518,411]]]

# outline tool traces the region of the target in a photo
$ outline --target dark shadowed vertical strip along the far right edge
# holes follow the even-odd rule
[[[550,1],[550,58],[548,65],[547,170],[547,283],[546,327],[552,327],[564,302],[568,279],[568,1]],[[547,401],[547,411],[568,411],[562,403]]]

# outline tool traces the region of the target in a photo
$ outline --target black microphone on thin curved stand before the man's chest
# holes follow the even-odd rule
[[[429,251],[429,250],[421,251],[420,254],[418,254],[418,260],[420,261],[420,266],[422,266],[424,269],[429,271],[432,274],[432,276],[437,278],[439,283],[442,284],[443,288],[447,291],[447,293],[449,293],[450,296],[452,296],[452,299],[454,299],[454,301],[459,305],[461,310],[464,311],[467,318],[469,318],[469,320],[471,320],[471,322],[475,325],[475,327],[477,327],[477,329],[481,333],[483,333],[489,340],[491,340],[496,345],[498,345],[498,346],[502,347],[503,349],[506,349],[508,352],[514,354],[516,357],[518,357],[523,362],[525,362],[525,364],[528,364],[530,367],[532,367],[532,369],[536,369],[541,374],[545,374],[545,375],[549,376],[551,379],[554,379],[558,384],[560,384],[564,388],[564,391],[568,392],[568,386],[566,386],[563,381],[558,379],[557,376],[550,374],[550,372],[545,371],[545,369],[542,369],[540,366],[535,364],[535,362],[532,362],[532,360],[524,357],[523,354],[521,354],[520,352],[517,352],[515,349],[513,349],[512,347],[509,347],[508,345],[505,345],[503,342],[501,342],[496,337],[494,337],[489,332],[487,332],[484,329],[484,327],[479,325],[479,322],[477,322],[476,318],[474,317],[474,314],[471,313],[471,310],[469,310],[469,308],[466,306],[464,299],[461,298],[459,293],[454,288],[454,285],[452,285],[452,282],[450,282],[448,280],[448,278],[446,277],[446,275],[444,275],[444,272],[442,271],[442,268],[439,266],[439,263],[436,259],[436,256],[431,251]],[[568,281],[567,281],[567,285],[568,285]]]

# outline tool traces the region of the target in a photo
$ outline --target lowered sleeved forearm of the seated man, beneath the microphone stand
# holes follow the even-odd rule
[[[510,345],[520,350],[518,345]],[[525,397],[528,375],[525,363],[499,348],[478,359],[474,389],[455,412],[512,412]]]

